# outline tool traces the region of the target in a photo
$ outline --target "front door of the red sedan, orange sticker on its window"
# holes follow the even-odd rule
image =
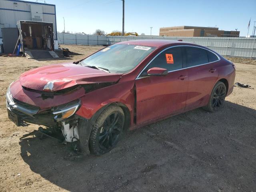
[[[183,69],[181,47],[158,54],[136,79],[136,122],[141,124],[183,111],[188,89],[187,70]],[[166,76],[147,76],[153,67],[168,70]]]

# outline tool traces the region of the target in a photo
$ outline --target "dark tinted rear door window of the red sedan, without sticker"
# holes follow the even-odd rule
[[[186,47],[187,67],[208,63],[208,55],[205,49],[198,47]]]

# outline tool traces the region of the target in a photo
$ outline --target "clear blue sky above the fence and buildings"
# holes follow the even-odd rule
[[[38,1],[40,2],[40,1]],[[46,0],[56,5],[57,30],[92,34],[122,30],[121,0]],[[125,0],[125,31],[159,35],[160,27],[217,26],[235,30],[240,36],[252,34],[256,21],[256,0]]]

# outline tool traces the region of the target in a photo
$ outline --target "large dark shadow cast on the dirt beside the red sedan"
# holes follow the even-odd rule
[[[255,191],[256,110],[226,102],[129,132],[104,156],[70,160],[54,139],[20,142],[32,171],[69,191]]]

